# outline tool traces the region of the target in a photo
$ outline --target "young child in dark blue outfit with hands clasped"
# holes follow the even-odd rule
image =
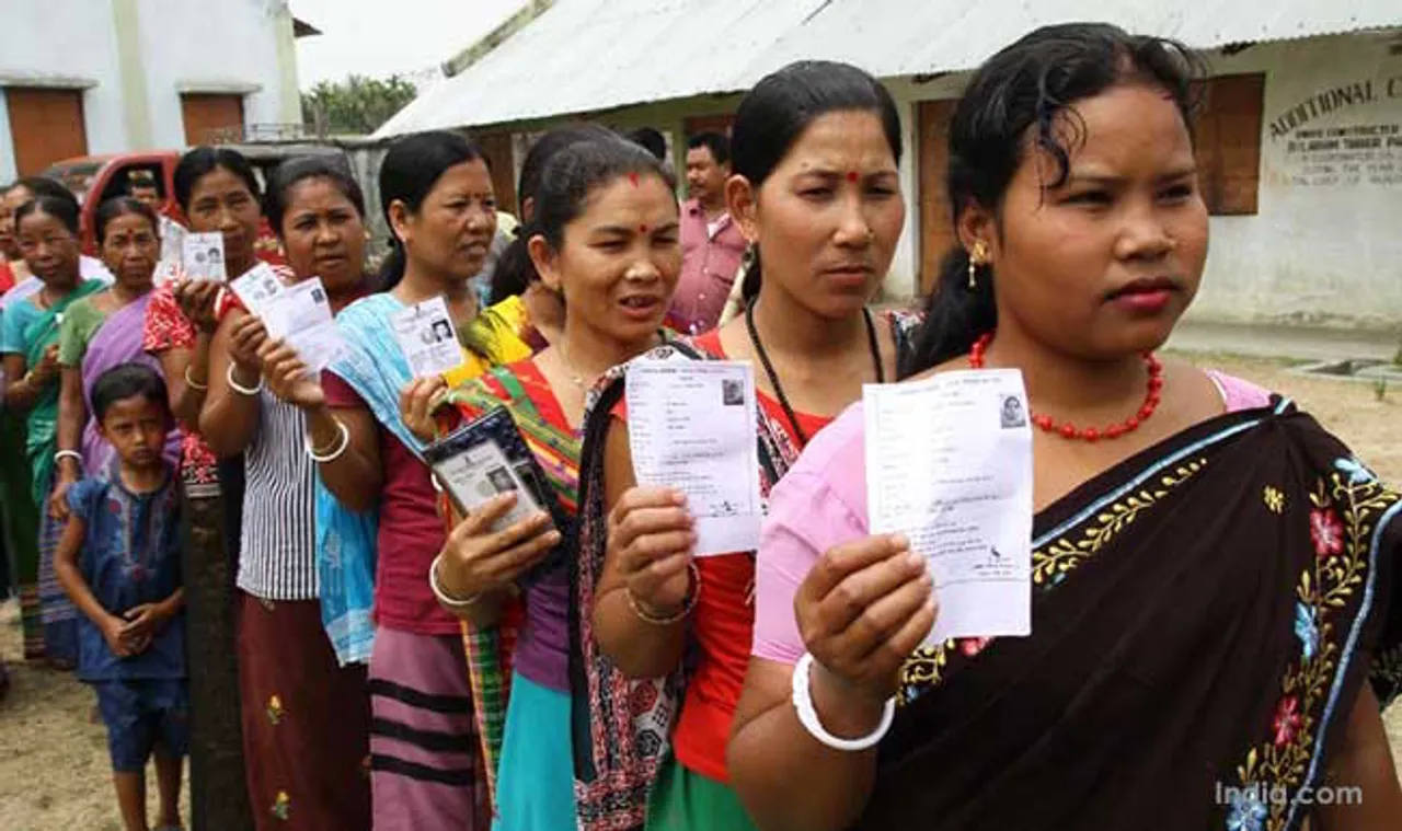
[[[161,458],[174,423],[165,381],[129,363],[93,387],[93,416],[116,451],[107,479],[69,493],[53,569],[79,625],[79,678],[97,691],[126,831],[147,831],[146,762],[156,755],[158,828],[179,828],[188,746],[179,485]]]

